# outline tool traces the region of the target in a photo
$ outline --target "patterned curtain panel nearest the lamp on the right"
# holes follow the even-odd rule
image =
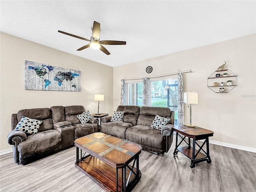
[[[178,73],[178,122],[177,125],[184,124],[184,102],[183,102],[183,74]]]

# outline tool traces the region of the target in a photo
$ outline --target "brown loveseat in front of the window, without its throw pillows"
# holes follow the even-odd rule
[[[116,111],[124,111],[123,122],[111,122],[111,116],[102,118],[102,133],[127,139],[158,154],[168,152],[173,140],[171,129],[174,124],[174,111],[167,107],[122,105]],[[150,127],[156,115],[170,118],[162,130]]]

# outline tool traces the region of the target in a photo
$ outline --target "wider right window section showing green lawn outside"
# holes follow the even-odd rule
[[[174,124],[178,120],[178,79],[150,81],[151,106],[168,107],[174,111]]]

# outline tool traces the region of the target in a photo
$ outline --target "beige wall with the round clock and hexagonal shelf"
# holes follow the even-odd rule
[[[238,86],[229,93],[214,93],[207,88],[207,78],[223,60],[227,61],[224,69],[238,74]],[[147,66],[153,67],[152,73],[146,73]],[[122,78],[190,69],[192,73],[184,74],[184,92],[198,92],[199,97],[192,106],[193,124],[214,131],[210,140],[256,149],[256,34],[114,67],[114,110],[120,104]],[[185,123],[189,123],[189,108],[184,106]]]

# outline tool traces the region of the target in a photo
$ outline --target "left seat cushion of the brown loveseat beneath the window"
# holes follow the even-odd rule
[[[127,122],[108,122],[102,123],[100,132],[118,137],[121,139],[126,139],[125,132],[129,127],[132,127],[132,123]]]

